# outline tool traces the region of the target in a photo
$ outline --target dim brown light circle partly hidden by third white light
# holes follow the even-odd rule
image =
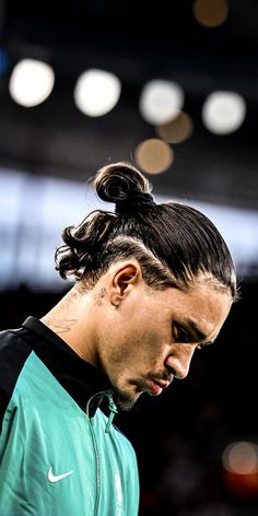
[[[179,112],[176,118],[156,127],[157,136],[168,143],[180,143],[187,140],[192,130],[192,119],[185,112]]]

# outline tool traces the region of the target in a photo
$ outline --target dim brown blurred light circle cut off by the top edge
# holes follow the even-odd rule
[[[206,27],[218,27],[228,14],[226,0],[196,0],[194,15],[198,23]]]

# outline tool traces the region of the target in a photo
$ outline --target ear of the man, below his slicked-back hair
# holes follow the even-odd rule
[[[119,306],[131,288],[142,279],[141,268],[137,261],[120,263],[113,272],[110,284],[110,302]]]

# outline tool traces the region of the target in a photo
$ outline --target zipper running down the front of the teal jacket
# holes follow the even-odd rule
[[[96,436],[95,436],[95,432],[93,430],[92,421],[91,421],[91,418],[90,418],[90,404],[91,404],[91,401],[93,400],[93,398],[95,398],[95,396],[99,396],[99,394],[103,394],[104,396],[108,396],[108,399],[109,399],[109,406],[108,407],[109,407],[109,410],[110,410],[110,414],[109,414],[109,418],[108,418],[108,421],[107,421],[105,432],[109,432],[112,422],[114,420],[114,417],[118,412],[117,408],[116,408],[116,406],[113,401],[110,390],[106,390],[104,392],[97,392],[96,395],[92,396],[92,398],[90,398],[90,400],[87,401],[86,415],[89,418],[91,439],[92,439],[92,446],[93,446],[93,452],[94,452],[94,457],[95,457],[95,465],[96,465],[96,469],[95,469],[96,499],[95,499],[95,506],[94,506],[94,516],[97,516],[98,505],[99,505],[99,497],[101,497],[101,468],[99,468],[99,455],[98,455],[98,449],[97,449]]]

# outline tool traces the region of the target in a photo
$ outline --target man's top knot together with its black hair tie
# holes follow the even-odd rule
[[[155,206],[152,185],[130,163],[118,162],[101,168],[94,180],[101,199],[115,202],[116,213],[132,213]]]

